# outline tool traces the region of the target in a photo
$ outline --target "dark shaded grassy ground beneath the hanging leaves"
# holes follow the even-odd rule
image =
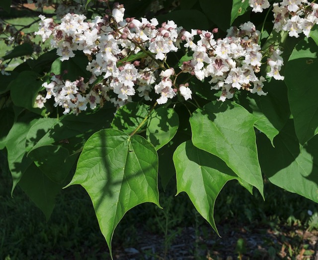
[[[52,217],[46,222],[19,188],[10,197],[11,177],[4,159],[1,151],[1,260],[110,259],[91,201],[80,186],[61,191]],[[261,259],[260,256],[269,253],[274,255],[273,259],[296,259],[301,252],[303,256],[313,254],[310,240],[297,232],[315,231],[318,224],[313,217],[317,217],[317,204],[269,183],[265,184],[265,195],[263,202],[257,193],[251,196],[236,182],[228,183],[215,208],[217,226],[223,236],[219,238],[185,194],[176,197],[162,194],[164,210],[146,203],[125,215],[115,230],[114,255],[117,259],[132,259],[129,250],[134,249],[140,252],[135,259],[147,259],[146,256],[172,259],[171,251],[183,243],[180,241],[185,238],[186,230],[192,232],[192,240],[186,246],[187,255],[196,259],[207,256],[213,260],[226,256]],[[314,212],[313,217],[308,215],[308,209]],[[258,248],[250,248],[250,236],[259,238]],[[155,252],[150,250],[154,248]],[[244,250],[239,251],[240,248]]]

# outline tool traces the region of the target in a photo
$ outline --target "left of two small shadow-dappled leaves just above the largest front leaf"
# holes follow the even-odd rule
[[[117,110],[111,128],[131,133],[143,122],[149,111],[148,105],[130,102]]]

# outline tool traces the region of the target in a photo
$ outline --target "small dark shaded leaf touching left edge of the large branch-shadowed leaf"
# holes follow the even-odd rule
[[[30,157],[35,165],[54,183],[63,184],[78,156],[69,157],[66,148],[56,145],[41,146],[32,150]]]

